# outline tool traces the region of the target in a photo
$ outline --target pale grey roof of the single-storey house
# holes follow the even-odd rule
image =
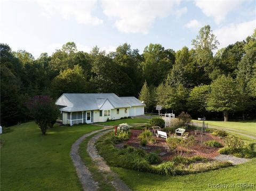
[[[88,111],[99,110],[107,100],[114,108],[144,105],[135,97],[118,97],[116,94],[62,94],[55,104],[66,106],[60,111]]]

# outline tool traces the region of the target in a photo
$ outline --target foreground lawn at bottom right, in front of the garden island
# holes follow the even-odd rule
[[[111,168],[132,190],[226,190],[209,188],[209,184],[254,184],[256,186],[256,159],[250,162],[194,175],[163,176],[123,168]],[[228,190],[252,190],[229,188]],[[255,188],[254,188],[255,190]]]

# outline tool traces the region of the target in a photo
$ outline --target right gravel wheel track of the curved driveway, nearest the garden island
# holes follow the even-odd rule
[[[116,190],[131,191],[131,189],[126,184],[124,184],[124,182],[119,178],[119,176],[115,172],[110,170],[105,160],[98,154],[97,148],[95,146],[97,140],[101,136],[107,134],[109,131],[111,130],[103,131],[93,136],[87,145],[87,153],[92,158],[92,161],[97,163],[99,170],[102,172],[102,175],[105,177],[105,179],[108,179],[109,176],[111,177],[111,184],[115,187]]]

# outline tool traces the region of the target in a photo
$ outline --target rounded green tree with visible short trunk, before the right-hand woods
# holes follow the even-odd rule
[[[228,114],[239,111],[240,103],[236,82],[230,76],[221,76],[212,82],[207,111],[223,112],[224,121],[228,121]]]

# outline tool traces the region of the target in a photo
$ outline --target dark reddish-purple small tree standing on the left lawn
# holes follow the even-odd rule
[[[58,106],[49,96],[34,96],[27,103],[27,107],[30,116],[35,119],[36,124],[41,129],[42,135],[46,134],[48,127],[53,127],[60,114]]]

